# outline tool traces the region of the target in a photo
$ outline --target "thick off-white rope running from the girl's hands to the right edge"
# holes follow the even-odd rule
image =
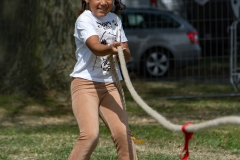
[[[154,119],[157,120],[158,123],[163,125],[165,128],[172,130],[172,131],[182,131],[182,125],[176,125],[168,121],[165,117],[163,117],[161,114],[153,110],[151,107],[149,107],[143,100],[142,98],[137,94],[136,90],[134,89],[131,80],[128,75],[128,70],[126,67],[126,62],[124,59],[122,47],[118,47],[118,57],[120,60],[120,65],[122,69],[122,74],[124,77],[124,81],[127,85],[127,88],[129,92],[131,93],[133,99],[142,107],[143,110],[145,110],[150,116],[152,116]],[[213,120],[209,120],[206,122],[198,123],[198,124],[189,124],[186,127],[186,131],[191,133],[191,132],[196,132],[208,128],[214,128],[217,126],[221,125],[227,125],[227,124],[240,124],[240,117],[239,116],[227,116],[227,117],[222,117],[222,118],[216,118]]]

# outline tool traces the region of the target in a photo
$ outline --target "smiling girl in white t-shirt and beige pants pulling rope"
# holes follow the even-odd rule
[[[136,150],[121,96],[111,72],[116,69],[117,47],[122,46],[125,60],[130,60],[127,38],[121,20],[114,13],[125,8],[121,0],[82,0],[75,24],[77,63],[72,77],[72,109],[80,136],[69,160],[89,160],[99,137],[99,116],[111,131],[119,160],[136,160]],[[110,67],[109,56],[115,66]]]

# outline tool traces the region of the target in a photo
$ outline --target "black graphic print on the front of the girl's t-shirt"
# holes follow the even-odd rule
[[[107,22],[96,22],[97,23],[97,34],[99,35],[99,40],[101,44],[108,45],[113,43],[117,40],[117,22],[115,20],[107,21]],[[103,74],[109,74],[109,71],[111,70],[110,62],[108,60],[108,56],[104,57],[97,57],[101,60],[101,68],[103,70]],[[96,61],[95,61],[96,62]],[[95,67],[93,66],[93,69]]]

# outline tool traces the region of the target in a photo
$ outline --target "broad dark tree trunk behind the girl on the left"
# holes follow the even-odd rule
[[[0,91],[44,95],[69,89],[76,0],[1,0]]]

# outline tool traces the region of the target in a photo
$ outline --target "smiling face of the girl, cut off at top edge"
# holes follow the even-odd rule
[[[86,0],[89,9],[97,17],[106,16],[113,8],[113,0]]]

